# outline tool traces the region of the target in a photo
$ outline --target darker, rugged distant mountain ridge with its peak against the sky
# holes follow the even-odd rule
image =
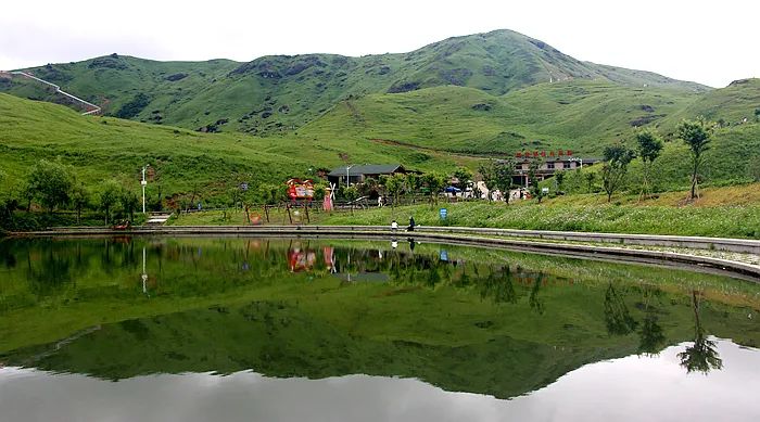
[[[625,87],[708,88],[661,75],[581,62],[510,30],[454,37],[401,54],[264,56],[249,63],[155,62],[112,54],[28,69],[107,115],[207,131],[293,131],[340,101],[367,94],[461,86],[494,95],[536,84],[607,80]],[[54,100],[23,78],[0,91]]]

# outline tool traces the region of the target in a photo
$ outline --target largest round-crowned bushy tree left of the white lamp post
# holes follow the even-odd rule
[[[67,204],[74,186],[74,172],[59,162],[40,159],[29,172],[27,189],[52,214],[59,205]]]

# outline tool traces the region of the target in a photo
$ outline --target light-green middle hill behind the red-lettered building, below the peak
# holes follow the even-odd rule
[[[598,154],[605,144],[658,123],[696,98],[591,80],[539,84],[499,97],[447,86],[345,100],[301,131],[342,131],[473,154],[557,148]]]

